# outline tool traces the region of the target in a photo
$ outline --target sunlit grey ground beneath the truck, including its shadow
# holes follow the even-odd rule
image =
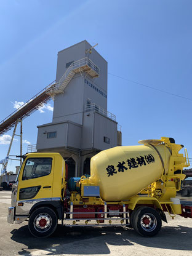
[[[188,199],[188,198],[186,198]],[[31,236],[27,222],[7,223],[10,191],[0,191],[0,255],[192,255],[192,219],[167,217],[159,234],[143,238],[130,228],[63,228],[50,237]]]

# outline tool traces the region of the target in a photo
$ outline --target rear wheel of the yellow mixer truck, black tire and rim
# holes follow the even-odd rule
[[[151,207],[140,207],[134,214],[134,230],[141,236],[155,236],[161,230],[161,216]]]

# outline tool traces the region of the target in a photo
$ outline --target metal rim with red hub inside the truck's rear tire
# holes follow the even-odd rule
[[[142,226],[143,230],[151,232],[157,226],[156,217],[150,213],[143,214],[140,220],[140,225]]]

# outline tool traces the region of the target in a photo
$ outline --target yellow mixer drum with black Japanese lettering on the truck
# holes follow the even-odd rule
[[[127,200],[167,173],[170,148],[148,143],[116,146],[91,158],[89,180],[100,186],[104,201]]]

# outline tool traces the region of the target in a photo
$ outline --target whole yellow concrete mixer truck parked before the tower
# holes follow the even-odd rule
[[[167,212],[192,218],[192,207],[176,198],[190,166],[183,145],[173,138],[142,140],[138,146],[117,146],[91,158],[90,177],[66,179],[59,153],[28,153],[12,188],[9,223],[28,220],[33,236],[65,226],[129,226],[142,236],[154,236],[167,222]]]

